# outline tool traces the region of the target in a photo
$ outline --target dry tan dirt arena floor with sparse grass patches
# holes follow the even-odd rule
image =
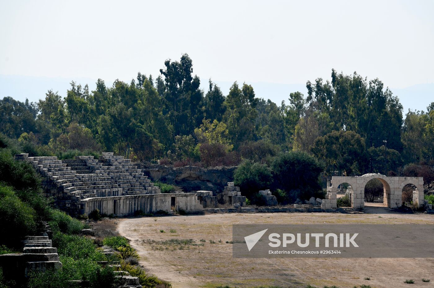
[[[434,224],[434,215],[395,214],[375,206],[365,210],[371,214],[240,213],[129,218],[118,221],[118,230],[138,250],[141,265],[171,282],[174,288],[214,288],[219,285],[305,287],[306,284],[340,288],[362,284],[434,287],[432,258],[233,259],[232,244],[225,243],[232,239],[232,224]],[[193,239],[194,242],[184,245],[173,239]],[[365,280],[366,277],[371,280]],[[422,278],[431,279],[431,282],[422,282]],[[404,284],[406,279],[413,279],[415,283]]]

